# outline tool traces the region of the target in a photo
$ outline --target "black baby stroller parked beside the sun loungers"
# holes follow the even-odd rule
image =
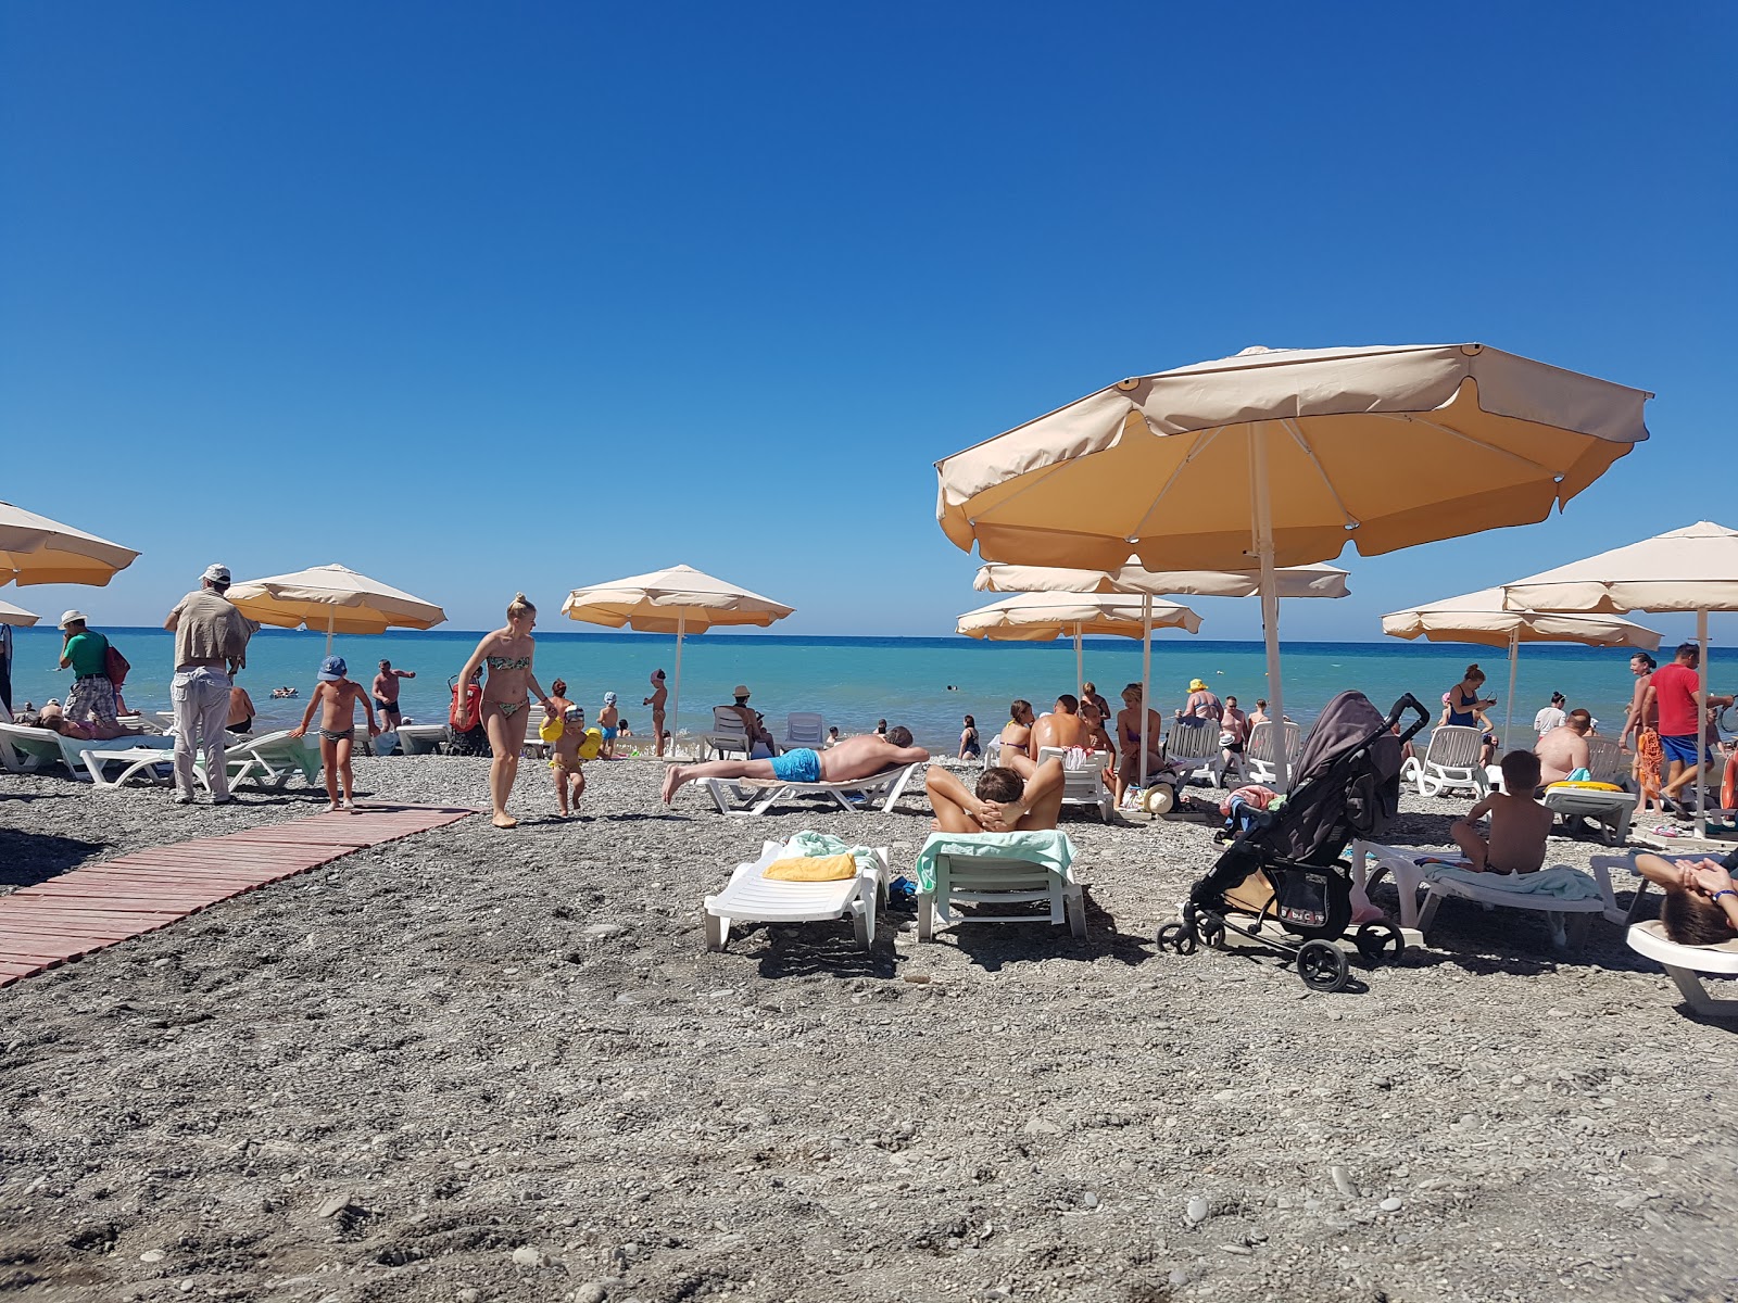
[[[1408,709],[1418,718],[1396,735]],[[1284,804],[1232,839],[1189,890],[1182,923],[1159,928],[1159,949],[1194,954],[1203,942],[1222,949],[1229,929],[1290,956],[1305,987],[1340,990],[1347,962],[1335,942],[1352,921],[1352,867],[1340,857],[1354,837],[1373,837],[1394,818],[1401,747],[1429,718],[1410,693],[1385,719],[1361,691],[1328,702]],[[1366,962],[1397,959],[1406,949],[1387,921],[1361,924],[1356,942]]]

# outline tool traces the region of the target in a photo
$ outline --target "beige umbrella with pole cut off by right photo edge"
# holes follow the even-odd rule
[[[1503,603],[1536,612],[1695,612],[1702,646],[1696,756],[1708,749],[1708,612],[1738,612],[1738,530],[1698,521],[1627,547],[1571,561],[1503,585]],[[1707,836],[1703,784],[1696,832]]]

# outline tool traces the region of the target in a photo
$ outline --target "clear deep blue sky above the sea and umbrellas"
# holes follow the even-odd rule
[[[1564,516],[1288,636],[1738,525],[1738,9],[1510,9],[9,3],[0,499],[144,556],[5,596],[337,559],[485,627],[687,561],[947,632],[935,459],[1250,344],[1658,393]]]

